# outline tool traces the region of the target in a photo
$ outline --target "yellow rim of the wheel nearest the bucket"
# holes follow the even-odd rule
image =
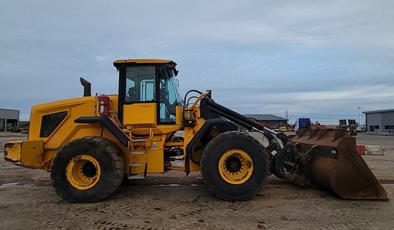
[[[245,183],[253,173],[252,158],[245,151],[237,149],[224,153],[218,167],[222,179],[233,185]]]

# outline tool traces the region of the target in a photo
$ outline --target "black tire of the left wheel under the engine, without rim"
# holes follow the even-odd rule
[[[67,179],[66,169],[77,155],[94,157],[101,170],[97,183],[89,189],[79,190]],[[102,137],[83,137],[65,145],[53,159],[51,167],[52,186],[65,200],[75,203],[98,202],[115,192],[124,177],[122,153],[111,141]]]

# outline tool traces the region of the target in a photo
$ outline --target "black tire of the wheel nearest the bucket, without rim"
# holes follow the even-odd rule
[[[253,161],[252,174],[243,184],[226,182],[218,169],[222,154],[234,149],[248,153]],[[256,139],[247,133],[230,131],[219,134],[206,145],[200,166],[202,179],[211,192],[228,201],[242,201],[263,189],[270,164],[267,150]]]

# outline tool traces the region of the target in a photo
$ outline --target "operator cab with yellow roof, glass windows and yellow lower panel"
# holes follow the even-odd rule
[[[146,127],[175,124],[176,106],[183,107],[175,62],[160,59],[127,59],[115,61],[114,66],[119,72],[119,120],[128,120],[122,122],[124,125],[145,124]],[[133,110],[130,110],[131,108]],[[130,113],[125,113],[125,110]],[[136,115],[137,111],[146,111],[146,116]],[[124,115],[134,118],[126,118]]]

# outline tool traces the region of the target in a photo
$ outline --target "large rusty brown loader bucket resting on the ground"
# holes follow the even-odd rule
[[[388,199],[385,189],[357,152],[355,138],[346,130],[300,130],[290,139],[298,157],[293,157],[293,164],[287,162],[286,179],[296,184],[317,185],[346,199]]]

